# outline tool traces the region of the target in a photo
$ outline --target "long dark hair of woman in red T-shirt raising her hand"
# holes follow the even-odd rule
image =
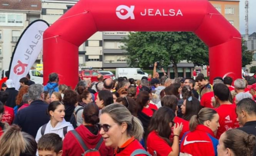
[[[148,131],[151,132],[156,130],[158,135],[171,145],[169,139],[171,127],[169,126],[169,123],[173,121],[174,117],[175,114],[171,108],[166,106],[160,107],[151,118]]]

